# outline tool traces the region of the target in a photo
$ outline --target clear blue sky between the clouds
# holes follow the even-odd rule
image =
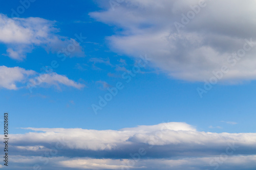
[[[11,17],[10,9],[20,6],[18,1],[14,2],[16,3],[5,3],[1,6],[2,13]],[[120,29],[88,16],[90,12],[102,10],[97,3],[78,1],[71,3],[72,5],[70,2],[51,2],[50,4],[47,1],[31,3],[31,8],[19,15],[24,18],[40,17],[55,20],[59,29],[58,35],[61,36],[76,38],[75,34],[81,33],[83,37],[87,37],[86,42],[81,44],[85,56],[61,61],[62,58],[58,58],[55,53],[47,53],[44,49],[37,47],[32,53],[27,54],[23,61],[16,61],[2,55],[1,63],[8,67],[19,66],[42,72],[43,66],[49,66],[52,60],[56,60],[59,67],[54,71],[57,74],[66,75],[74,81],[80,80],[86,84],[86,87],[80,90],[65,87],[61,90],[54,87],[38,87],[34,88],[32,93],[26,88],[15,91],[2,88],[1,103],[5,106],[2,107],[2,112],[8,111],[15,117],[11,120],[13,133],[22,133],[15,129],[19,127],[80,127],[105,130],[133,127],[139,124],[154,125],[167,121],[186,122],[203,131],[253,131],[252,126],[255,126],[252,122],[255,117],[253,81],[236,85],[219,83],[201,99],[197,88],[203,87],[202,82],[176,80],[169,77],[163,70],[151,65],[143,70],[144,74],[137,74],[109,102],[108,106],[95,115],[91,104],[97,103],[98,96],[107,92],[96,82],[102,81],[115,86],[118,81],[122,81],[118,76],[120,77],[123,71],[116,71],[115,66],[104,63],[97,63],[98,69],[96,69],[90,59],[109,60],[112,65],[120,64],[118,61],[123,59],[128,63],[125,65],[126,69],[133,68],[136,59],[110,50],[105,37],[117,34]],[[39,8],[49,10],[46,12],[38,10]],[[1,49],[4,54],[6,45],[2,43]],[[147,53],[141,53],[141,55],[145,54]],[[150,56],[150,54],[147,55]],[[109,77],[108,73],[116,74],[116,77]],[[79,118],[72,112],[75,112]],[[44,121],[38,122],[38,119]],[[238,124],[232,126],[221,121]],[[222,129],[210,129],[209,126],[220,126]]]

